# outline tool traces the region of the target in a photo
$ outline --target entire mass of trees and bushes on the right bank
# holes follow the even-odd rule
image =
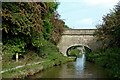
[[[112,77],[120,78],[120,2],[97,25],[95,36],[102,42],[102,48],[87,51],[86,59],[105,67]]]

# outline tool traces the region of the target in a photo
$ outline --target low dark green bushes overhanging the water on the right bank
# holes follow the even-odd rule
[[[105,51],[97,50],[87,53],[86,59],[105,67],[110,76],[120,78],[120,48],[109,48]]]

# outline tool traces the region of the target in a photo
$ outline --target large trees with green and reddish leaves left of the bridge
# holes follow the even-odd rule
[[[43,53],[44,48],[57,44],[65,27],[56,11],[58,5],[57,2],[3,2],[3,51],[8,49],[15,54],[30,49],[40,56],[48,55]]]

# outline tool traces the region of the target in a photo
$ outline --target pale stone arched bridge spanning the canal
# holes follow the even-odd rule
[[[66,52],[72,46],[86,46],[92,51],[100,48],[101,43],[93,36],[95,30],[96,29],[65,29],[57,45],[60,52],[64,56],[67,56]]]

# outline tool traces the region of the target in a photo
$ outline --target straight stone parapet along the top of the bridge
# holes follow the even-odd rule
[[[65,29],[62,35],[93,35],[96,29]]]

